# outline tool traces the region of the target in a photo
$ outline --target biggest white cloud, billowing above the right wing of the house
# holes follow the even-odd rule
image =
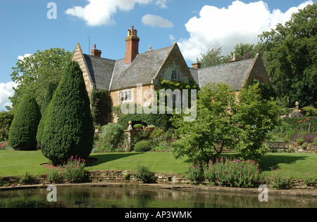
[[[178,44],[187,60],[195,61],[209,48],[220,46],[223,47],[223,54],[227,55],[236,44],[256,44],[259,34],[274,29],[278,23],[285,24],[292,13],[308,4],[313,4],[313,1],[306,1],[285,13],[280,9],[271,12],[263,1],[249,4],[233,1],[228,8],[204,6],[200,17],[191,18],[185,25],[190,38],[180,39]]]

